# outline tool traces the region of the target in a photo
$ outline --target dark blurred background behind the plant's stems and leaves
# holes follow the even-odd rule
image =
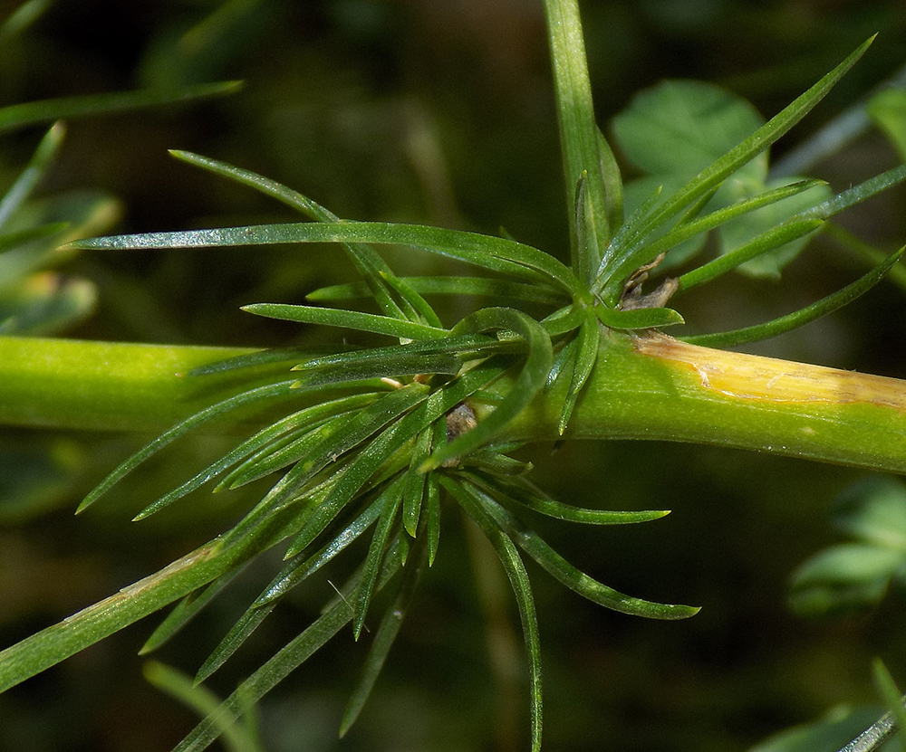
[[[18,5],[0,2],[0,18]],[[235,96],[188,109],[68,124],[40,194],[91,189],[116,196],[118,232],[295,220],[280,205],[166,152],[180,148],[273,177],[342,217],[491,233],[505,227],[518,240],[568,253],[537,0],[45,5],[34,24],[0,46],[2,104],[246,81]],[[863,62],[781,142],[778,156],[906,61],[901,0],[586,0],[583,18],[602,124],[634,92],[665,78],[716,82],[770,116],[880,32]],[[5,185],[45,130],[0,134]],[[811,174],[841,189],[897,161],[890,143],[870,130]],[[892,250],[906,238],[904,202],[903,191],[894,190],[841,224]],[[429,264],[438,263],[411,253],[390,256],[403,270],[431,271]],[[90,281],[96,293],[93,316],[68,336],[269,346],[316,343],[322,335],[247,316],[239,305],[300,302],[308,290],[347,280],[350,270],[336,249],[276,247],[82,254],[58,271]],[[700,298],[690,294],[680,310],[693,327],[743,326],[801,307],[862,271],[819,239],[783,281],[728,280]],[[902,290],[884,283],[757,351],[903,377],[904,303]],[[471,304],[453,301],[448,320]],[[246,501],[241,494],[200,494],[141,525],[128,522],[225,441],[208,437],[140,471],[115,500],[73,519],[81,494],[147,437],[9,428],[2,435],[4,646],[166,565],[215,534],[223,516],[232,518]],[[663,443],[543,445],[524,453],[536,464],[536,480],[562,500],[673,509],[645,526],[576,533],[539,520],[538,529],[576,565],[621,590],[703,607],[686,622],[645,622],[583,602],[529,565],[545,655],[546,748],[726,752],[829,712],[857,729],[875,710],[846,720],[845,708],[878,702],[873,656],[906,681],[906,603],[895,585],[888,597],[834,619],[795,615],[787,604],[791,573],[843,539],[828,522],[832,502],[866,473]],[[265,749],[524,748],[515,609],[481,550],[458,520],[447,520],[439,559],[347,738],[339,741],[336,729],[368,635],[355,644],[343,632],[265,701]],[[194,673],[270,576],[253,570],[161,649],[159,660]],[[212,688],[228,693],[301,631],[330,587],[323,580],[286,599]],[[135,652],[157,621],[0,696],[0,750],[169,749],[195,718],[142,677]],[[848,731],[840,733],[845,739]]]

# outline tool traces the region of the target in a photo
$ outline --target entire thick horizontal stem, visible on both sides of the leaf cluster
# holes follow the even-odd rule
[[[249,386],[181,374],[245,352],[0,338],[0,424],[165,428]],[[537,397],[500,438],[561,438],[565,388]],[[477,405],[479,419],[490,409]],[[898,379],[604,332],[564,438],[708,443],[902,472],[904,430],[906,382]]]

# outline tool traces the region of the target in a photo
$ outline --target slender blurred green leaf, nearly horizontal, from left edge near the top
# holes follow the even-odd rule
[[[220,97],[236,93],[241,87],[242,81],[223,81],[201,83],[180,90],[118,91],[88,94],[82,97],[24,102],[0,108],[0,132],[48,120],[71,120],[101,112],[120,112],[207,97]]]

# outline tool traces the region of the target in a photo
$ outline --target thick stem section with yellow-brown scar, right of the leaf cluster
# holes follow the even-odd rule
[[[564,388],[538,398],[506,438],[559,438]],[[904,472],[904,433],[906,381],[611,333],[564,438],[707,443]]]

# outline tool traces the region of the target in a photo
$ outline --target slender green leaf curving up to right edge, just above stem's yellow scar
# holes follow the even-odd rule
[[[682,337],[686,342],[707,347],[734,347],[747,342],[757,342],[761,339],[776,337],[795,328],[803,327],[815,319],[820,319],[834,310],[853,302],[860,295],[871,290],[878,282],[882,281],[893,264],[900,261],[904,249],[892,253],[882,264],[860,277],[858,280],[846,285],[843,290],[837,290],[826,298],[817,300],[794,313],[788,313],[764,324],[752,327],[732,329],[730,331],[716,332],[715,334],[702,334],[693,337]]]

